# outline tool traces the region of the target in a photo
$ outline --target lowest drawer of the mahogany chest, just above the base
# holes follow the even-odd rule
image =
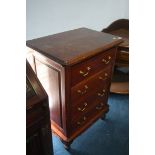
[[[109,109],[109,106],[105,103],[99,103],[94,106],[94,108],[82,115],[78,120],[72,121],[72,132],[80,128],[87,128],[95,120],[101,117],[103,113],[106,113]]]

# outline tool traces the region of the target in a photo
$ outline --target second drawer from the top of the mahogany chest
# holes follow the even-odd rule
[[[88,98],[102,89],[103,91],[107,91],[110,80],[111,80],[111,72],[112,68],[108,67],[101,72],[91,76],[89,79],[77,84],[76,86],[71,88],[71,101],[72,105],[77,104],[78,102]]]

